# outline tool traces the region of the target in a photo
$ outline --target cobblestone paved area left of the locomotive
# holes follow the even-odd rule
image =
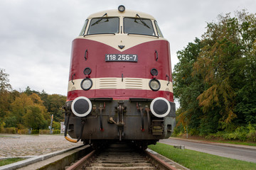
[[[72,143],[64,135],[1,135],[0,159],[3,157],[30,157],[77,147],[82,142]]]

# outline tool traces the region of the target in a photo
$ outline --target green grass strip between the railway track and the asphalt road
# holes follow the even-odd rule
[[[251,162],[244,162],[236,159],[215,156],[213,154],[206,154],[196,152],[189,149],[176,149],[173,146],[157,143],[156,145],[149,145],[149,149],[158,152],[159,154],[168,157],[169,159],[178,162],[188,169],[195,170],[246,170],[256,169],[256,164]]]

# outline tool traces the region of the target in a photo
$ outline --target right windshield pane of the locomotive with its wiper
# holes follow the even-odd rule
[[[151,20],[144,18],[124,18],[124,33],[155,35]]]

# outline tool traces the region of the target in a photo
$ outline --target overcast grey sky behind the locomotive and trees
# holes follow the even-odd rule
[[[172,69],[176,52],[201,38],[218,14],[256,13],[255,0],[0,0],[0,68],[13,89],[67,95],[72,40],[87,16],[121,4],[156,18],[171,44]]]

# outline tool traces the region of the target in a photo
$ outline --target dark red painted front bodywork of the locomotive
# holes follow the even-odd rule
[[[85,60],[85,51],[87,50],[87,60]],[[156,51],[158,60],[156,61]],[[138,62],[105,62],[106,54],[131,54],[138,56]],[[131,47],[123,52],[105,45],[104,43],[87,40],[73,40],[70,76],[73,79],[85,79],[83,70],[90,67],[92,72],[90,78],[103,77],[123,77],[152,79],[150,73],[152,68],[156,68],[159,74],[156,79],[168,80],[166,74],[171,80],[171,61],[169,52],[169,42],[166,40],[153,40]],[[174,101],[174,95],[169,91],[151,91],[137,89],[90,89],[88,91],[75,90],[68,92],[68,100],[73,100],[78,96],[87,98],[156,98],[164,97],[169,101]]]

